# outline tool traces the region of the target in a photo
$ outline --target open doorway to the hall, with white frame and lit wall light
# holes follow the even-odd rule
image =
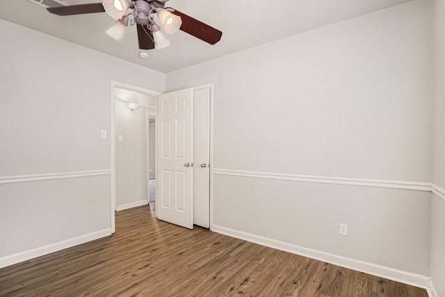
[[[114,211],[149,203],[149,113],[159,93],[112,82],[111,225]],[[153,171],[153,170],[152,170]]]

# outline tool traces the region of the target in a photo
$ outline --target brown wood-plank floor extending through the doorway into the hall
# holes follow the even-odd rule
[[[419,289],[156,220],[116,213],[116,233],[0,269],[0,296],[428,296]]]

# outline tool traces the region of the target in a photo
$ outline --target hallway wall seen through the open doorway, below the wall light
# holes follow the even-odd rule
[[[116,99],[116,205],[118,210],[148,203],[147,104],[154,96],[145,95],[134,102],[141,106],[131,111]]]

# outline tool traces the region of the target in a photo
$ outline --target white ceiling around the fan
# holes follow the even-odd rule
[[[1,0],[0,18],[168,73],[409,1],[412,0],[170,0],[166,6],[223,31],[223,38],[209,45],[179,31],[168,35],[169,47],[147,51],[147,59],[139,58],[136,26],[127,28],[122,43],[106,35],[105,30],[114,22],[106,13],[60,17],[28,0]],[[101,0],[64,2],[73,5]]]

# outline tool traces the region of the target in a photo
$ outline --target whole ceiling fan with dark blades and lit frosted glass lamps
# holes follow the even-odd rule
[[[55,15],[83,15],[86,13],[107,13],[116,22],[106,33],[119,42],[127,26],[136,23],[140,49],[163,49],[170,45],[153,15],[157,14],[166,33],[176,33],[178,30],[199,38],[211,45],[220,41],[223,32],[204,24],[175,10],[164,8],[168,0],[103,0],[102,3],[88,3],[72,6],[49,7],[47,10]],[[127,13],[127,10],[132,10]]]

